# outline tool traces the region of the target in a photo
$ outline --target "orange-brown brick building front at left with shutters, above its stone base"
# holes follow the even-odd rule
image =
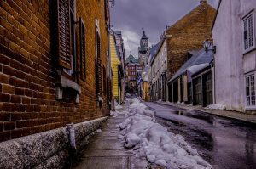
[[[108,1],[0,1],[0,141],[109,114]]]

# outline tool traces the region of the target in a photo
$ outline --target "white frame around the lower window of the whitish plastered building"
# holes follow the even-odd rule
[[[251,105],[247,105],[247,78],[251,77],[251,76],[254,77],[255,105],[252,105],[251,85],[249,85],[249,87],[250,87],[250,89],[249,89],[250,90],[249,91],[250,96],[249,97],[250,97],[250,104]],[[253,71],[251,73],[246,74],[244,81],[245,81],[245,88],[244,88],[244,90],[245,90],[245,109],[246,110],[256,110],[256,71]],[[251,83],[251,79],[249,80],[249,83]]]

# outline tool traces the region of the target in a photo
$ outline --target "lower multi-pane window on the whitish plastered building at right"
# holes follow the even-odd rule
[[[247,107],[255,106],[255,77],[246,76],[246,104]]]

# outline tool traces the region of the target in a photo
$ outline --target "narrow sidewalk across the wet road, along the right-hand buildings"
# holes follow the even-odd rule
[[[212,110],[212,109],[203,108],[201,106],[192,106],[189,104],[173,104],[170,102],[163,102],[163,101],[157,101],[157,103],[172,105],[174,107],[178,107],[186,110],[198,110],[198,111],[202,111],[212,115],[223,116],[231,119],[236,119],[239,121],[247,121],[247,122],[256,124],[256,115],[250,115],[247,113],[242,113],[242,112],[237,112],[232,110]]]

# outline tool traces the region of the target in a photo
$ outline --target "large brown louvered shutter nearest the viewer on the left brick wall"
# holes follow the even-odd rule
[[[71,69],[70,0],[57,0],[59,65]]]

